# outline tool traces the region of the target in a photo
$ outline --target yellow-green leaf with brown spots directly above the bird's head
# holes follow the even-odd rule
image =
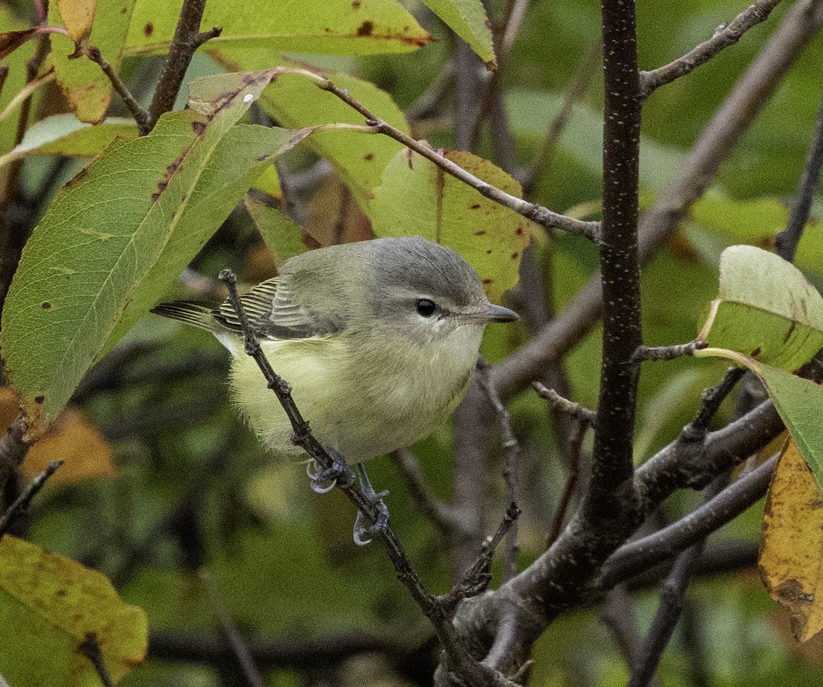
[[[521,194],[520,185],[488,160],[459,151],[444,155],[505,192]],[[420,235],[454,248],[477,270],[493,301],[518,281],[531,222],[416,152],[404,149],[394,156],[367,214],[377,236]]]

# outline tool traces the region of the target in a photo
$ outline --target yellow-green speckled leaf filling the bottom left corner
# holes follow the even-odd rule
[[[91,687],[80,644],[95,634],[114,682],[146,655],[148,624],[95,570],[40,546],[0,541],[0,673],[14,687]]]

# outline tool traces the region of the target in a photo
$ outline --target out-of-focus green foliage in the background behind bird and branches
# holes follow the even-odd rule
[[[404,4],[435,42],[402,55],[297,57],[374,81],[404,111],[420,110],[418,99],[428,89],[439,88],[440,97],[426,108],[425,118],[410,123],[416,137],[454,148],[455,119],[461,113],[448,75],[456,39],[426,7],[412,0]],[[640,67],[657,67],[686,53],[745,4],[639,2]],[[739,44],[651,96],[642,129],[644,207],[677,175],[695,138],[789,6],[784,2]],[[20,2],[16,11],[26,16],[28,8]],[[504,11],[504,0],[490,2],[493,26],[499,25]],[[528,165],[542,146],[570,81],[597,43],[599,25],[595,0],[529,5],[498,74],[517,165]],[[797,61],[680,234],[645,267],[647,345],[690,341],[700,310],[714,297],[720,251],[735,243],[769,247],[784,224],[820,100],[821,41],[818,37]],[[160,64],[157,58],[133,58],[123,74],[140,92],[141,84],[156,77]],[[198,54],[189,76],[219,69]],[[538,175],[533,200],[556,211],[592,202],[597,207],[601,118],[598,65],[556,155]],[[495,160],[488,126],[477,152]],[[314,161],[303,148],[287,156],[281,169],[286,175],[297,173]],[[24,189],[34,193],[44,179],[51,179],[53,193],[77,165],[49,158],[29,160]],[[509,171],[516,176],[518,169]],[[310,196],[316,188],[306,193]],[[45,197],[41,206],[48,202]],[[813,215],[819,217],[820,211],[818,198]],[[590,216],[596,219],[597,211]],[[820,286],[823,244],[817,229],[816,223],[807,229],[797,265]],[[535,244],[547,300],[557,312],[596,271],[597,254],[592,245],[568,235],[538,235]],[[269,276],[274,268],[242,209],[230,216],[193,264],[210,278],[227,266],[249,281]],[[523,323],[516,328],[492,327],[484,355],[492,362],[501,360],[526,337]],[[570,395],[586,406],[597,402],[599,337],[595,327],[565,359]],[[204,332],[156,317],[142,320],[91,371],[74,397],[74,404],[110,448],[106,471],[111,468],[116,476],[61,480],[58,473],[36,500],[26,536],[99,569],[126,601],[146,610],[150,654],[144,667],[123,680],[127,687],[241,684],[230,658],[210,663],[195,648],[199,642],[219,654],[224,647],[219,612],[195,573],[203,565],[249,639],[267,684],[427,684],[436,659],[432,634],[394,578],[383,550],[379,545],[352,545],[354,513],[340,494],[314,494],[302,466],[274,463],[263,453],[228,403],[226,356]],[[639,461],[677,436],[694,415],[702,389],[722,374],[723,364],[705,360],[644,366]],[[718,422],[728,418],[733,400],[727,406]],[[528,564],[546,544],[565,485],[565,463],[543,402],[526,392],[511,410],[523,448],[520,556],[521,563]],[[448,500],[453,461],[449,428],[413,450],[430,485]],[[379,489],[391,492],[393,526],[430,590],[445,592],[449,559],[438,532],[416,510],[391,462],[374,461],[370,475]],[[493,467],[489,480],[491,531],[504,511],[500,469]],[[696,494],[677,494],[665,504],[660,521],[685,513],[697,499]],[[718,551],[714,570],[707,570],[690,588],[684,620],[658,672],[660,685],[812,684],[813,675],[819,675],[821,644],[795,645],[787,619],[751,567],[761,513],[760,506],[752,508],[709,540],[709,553]],[[724,559],[723,552],[729,550],[741,555]],[[631,609],[644,634],[657,606],[654,581],[639,582],[626,594],[618,615],[630,615]],[[625,685],[628,672],[621,648],[607,629],[614,622],[610,613],[614,615],[605,608],[580,610],[552,625],[533,647],[531,684]],[[181,654],[186,659],[176,660]]]

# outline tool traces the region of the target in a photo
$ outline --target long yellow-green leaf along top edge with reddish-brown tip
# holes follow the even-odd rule
[[[163,53],[174,35],[181,0],[138,0],[128,28],[132,54]],[[303,0],[299,4],[249,0],[242,12],[230,2],[208,2],[201,26],[222,26],[207,49],[243,47],[335,55],[406,53],[431,40],[394,0]],[[273,63],[268,63],[271,66]]]

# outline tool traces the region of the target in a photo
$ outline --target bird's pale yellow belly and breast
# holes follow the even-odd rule
[[[341,355],[341,343],[331,339],[261,343],[274,371],[291,383],[295,403],[316,439],[349,462],[383,455],[430,434],[463,397],[477,359],[476,349],[457,356],[430,350],[413,359],[395,351],[390,362],[377,358],[351,364]],[[295,354],[298,346],[300,355]],[[235,402],[263,443],[274,453],[299,456],[286,413],[257,364],[242,351],[232,363],[230,383]]]

